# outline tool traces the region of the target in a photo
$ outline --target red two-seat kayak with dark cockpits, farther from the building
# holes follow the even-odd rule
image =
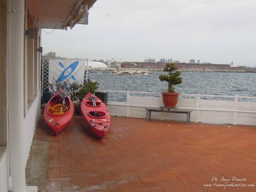
[[[81,102],[81,112],[94,134],[103,138],[110,127],[110,115],[108,107],[96,96],[88,93]]]

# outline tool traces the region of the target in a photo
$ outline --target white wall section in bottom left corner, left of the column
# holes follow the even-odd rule
[[[2,159],[0,159],[0,191],[8,191],[8,166],[7,166],[7,152],[3,154]]]

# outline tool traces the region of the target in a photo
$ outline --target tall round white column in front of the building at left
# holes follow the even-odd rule
[[[9,0],[9,56],[8,56],[8,107],[9,152],[12,191],[25,192],[25,162],[23,139],[23,56],[24,56],[24,0]]]

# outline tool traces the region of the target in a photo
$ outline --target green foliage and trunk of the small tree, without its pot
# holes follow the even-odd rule
[[[175,63],[166,63],[166,67],[163,71],[168,72],[168,75],[161,74],[159,76],[160,81],[166,81],[168,83],[168,92],[174,93],[175,88],[173,85],[182,83],[181,71],[177,71]]]

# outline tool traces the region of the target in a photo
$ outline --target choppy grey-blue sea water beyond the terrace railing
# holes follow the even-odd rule
[[[161,82],[158,76],[163,73],[154,71],[148,75],[116,75],[109,71],[90,72],[90,79],[99,83],[99,90],[165,92],[167,82]],[[176,92],[200,95],[228,95],[256,97],[256,73],[235,72],[182,72],[183,82],[176,85]],[[136,94],[139,96],[145,95]],[[109,93],[112,101],[125,101],[125,93]],[[232,100],[229,98],[214,98]]]

